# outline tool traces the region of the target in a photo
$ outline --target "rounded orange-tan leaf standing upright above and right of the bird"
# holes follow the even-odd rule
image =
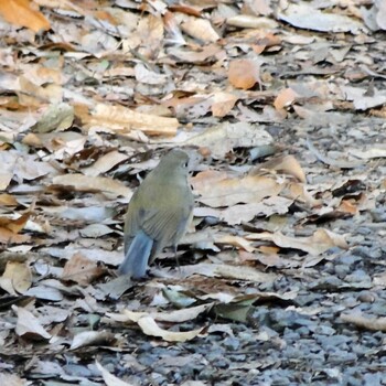
[[[236,88],[253,88],[260,81],[259,66],[251,60],[232,61],[229,63],[228,79]]]

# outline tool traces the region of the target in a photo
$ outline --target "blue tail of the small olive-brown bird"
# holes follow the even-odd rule
[[[154,240],[143,230],[140,230],[132,239],[129,250],[125,254],[125,260],[118,271],[120,275],[130,275],[133,279],[146,276],[148,261]]]

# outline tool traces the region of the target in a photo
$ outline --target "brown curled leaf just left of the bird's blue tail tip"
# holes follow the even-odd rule
[[[88,286],[93,280],[105,272],[96,261],[82,254],[75,254],[64,266],[62,280],[75,281],[81,286]]]

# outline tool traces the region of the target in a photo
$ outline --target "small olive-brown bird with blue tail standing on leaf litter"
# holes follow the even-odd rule
[[[125,221],[125,260],[118,271],[146,276],[164,247],[176,246],[193,217],[194,197],[187,182],[189,157],[182,150],[164,156],[137,189]]]

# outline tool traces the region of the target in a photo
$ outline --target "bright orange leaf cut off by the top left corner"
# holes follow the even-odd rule
[[[28,0],[0,1],[0,13],[9,23],[26,26],[35,33],[50,30],[51,24],[43,13],[31,6],[33,2]]]

